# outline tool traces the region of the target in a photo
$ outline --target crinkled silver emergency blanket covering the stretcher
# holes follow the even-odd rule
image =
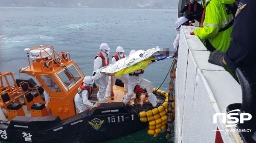
[[[141,62],[145,59],[150,58],[154,55],[160,54],[160,48],[157,46],[156,48],[151,48],[148,50],[137,50],[135,53],[126,56],[123,59],[118,60],[113,64],[109,64],[105,67],[96,70],[96,73],[116,73],[126,67],[130,67],[138,62]],[[134,70],[135,71],[135,70]]]

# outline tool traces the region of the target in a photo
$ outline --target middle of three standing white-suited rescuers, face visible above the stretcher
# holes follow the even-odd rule
[[[123,59],[126,57],[126,55],[124,55],[125,50],[121,47],[118,46],[116,48],[116,54],[114,56],[112,56],[112,61],[111,63],[115,63],[116,61]],[[116,83],[116,76],[112,76],[112,83],[113,85],[115,85]],[[119,79],[122,80],[122,83],[124,83],[124,91],[128,92],[128,88],[127,88],[127,84],[128,84],[128,75],[122,75]],[[107,87],[107,92],[106,92],[106,97],[110,98],[111,97],[111,76],[109,76],[109,80],[108,80],[108,87]]]

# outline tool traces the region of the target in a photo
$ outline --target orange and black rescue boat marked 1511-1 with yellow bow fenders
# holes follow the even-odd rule
[[[25,51],[29,66],[20,68],[19,72],[32,78],[14,79],[12,72],[0,73],[0,106],[7,115],[6,119],[0,110],[0,141],[99,143],[147,127],[148,134],[156,137],[170,123],[169,92],[153,89],[158,101],[152,107],[146,90],[135,89],[131,101],[124,104],[126,92],[122,81],[113,85],[111,98],[100,107],[78,113],[74,97],[85,74],[70,59],[70,53],[57,53],[52,46],[42,45]],[[44,78],[52,79],[51,84],[47,85]],[[44,90],[50,98],[47,107]],[[97,103],[98,90],[94,85],[91,102]]]

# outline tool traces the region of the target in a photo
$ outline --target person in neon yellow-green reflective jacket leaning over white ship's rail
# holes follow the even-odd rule
[[[202,0],[204,12],[201,28],[190,31],[191,35],[197,35],[204,39],[204,45],[209,51],[227,51],[232,38],[233,7],[235,0]],[[193,24],[192,24],[193,25]]]

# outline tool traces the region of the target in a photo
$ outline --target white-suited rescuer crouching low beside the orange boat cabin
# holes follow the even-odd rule
[[[90,76],[85,76],[84,80],[81,82],[78,87],[78,92],[75,96],[75,105],[80,110],[79,113],[90,109],[91,107],[100,107],[100,104],[94,104],[90,102],[90,98],[92,98],[93,93],[93,78]]]

